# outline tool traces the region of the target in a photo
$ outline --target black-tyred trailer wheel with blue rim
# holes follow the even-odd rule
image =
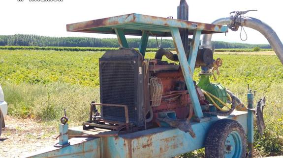
[[[205,140],[205,158],[245,158],[246,134],[237,121],[223,119],[209,130]]]

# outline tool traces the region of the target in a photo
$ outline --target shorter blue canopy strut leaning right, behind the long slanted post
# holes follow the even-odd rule
[[[190,46],[189,59],[188,59],[191,77],[193,76],[193,71],[195,67],[200,35],[201,35],[201,30],[193,31],[192,43]]]

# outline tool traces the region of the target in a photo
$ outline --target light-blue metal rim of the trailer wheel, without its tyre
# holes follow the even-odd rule
[[[232,131],[224,143],[224,158],[240,158],[242,152],[241,136],[238,132]]]

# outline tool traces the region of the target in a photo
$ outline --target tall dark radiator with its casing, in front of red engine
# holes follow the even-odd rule
[[[100,102],[128,106],[132,124],[144,125],[144,68],[143,57],[134,49],[105,52],[99,59]],[[101,109],[105,120],[125,122],[125,110],[105,106]]]

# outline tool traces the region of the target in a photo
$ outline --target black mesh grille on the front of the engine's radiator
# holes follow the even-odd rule
[[[134,61],[101,61],[101,103],[128,106],[129,119],[135,118]],[[125,121],[125,110],[121,107],[103,107],[103,118]],[[109,119],[111,120],[111,119]]]

